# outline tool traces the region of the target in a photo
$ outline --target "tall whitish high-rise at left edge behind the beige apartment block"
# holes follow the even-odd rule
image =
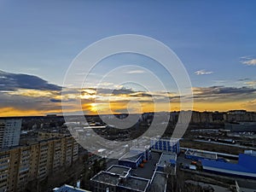
[[[0,148],[20,143],[21,119],[0,119]]]

